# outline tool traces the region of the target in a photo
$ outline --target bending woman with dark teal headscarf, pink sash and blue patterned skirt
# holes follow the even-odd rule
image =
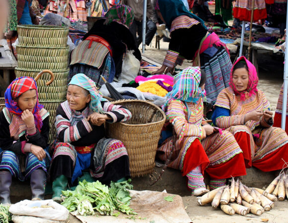
[[[184,59],[193,60],[207,75],[207,98],[216,102],[218,93],[228,87],[232,63],[228,50],[215,33],[209,34],[202,19],[188,11],[181,0],[158,0],[160,18],[170,30],[167,55],[153,74],[173,73]]]

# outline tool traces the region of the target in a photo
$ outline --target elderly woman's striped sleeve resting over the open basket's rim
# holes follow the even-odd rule
[[[102,102],[103,111],[112,117],[112,120],[107,120],[109,123],[127,121],[132,117],[131,112],[124,106],[113,105],[110,102]]]

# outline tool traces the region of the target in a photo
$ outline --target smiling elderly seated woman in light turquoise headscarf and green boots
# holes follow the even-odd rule
[[[129,158],[123,143],[104,138],[104,123],[126,121],[131,112],[112,105],[98,93],[95,83],[79,73],[68,85],[67,101],[56,111],[57,139],[52,148],[50,177],[53,200],[76,184],[83,170],[105,184],[130,177]]]

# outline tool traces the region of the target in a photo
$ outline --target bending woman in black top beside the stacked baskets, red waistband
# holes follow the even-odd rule
[[[134,51],[141,61],[141,53],[129,31],[133,18],[131,7],[118,4],[107,11],[105,18],[98,19],[72,52],[68,82],[77,73],[87,75],[97,87],[104,83],[100,74],[112,82],[121,74],[127,50]]]

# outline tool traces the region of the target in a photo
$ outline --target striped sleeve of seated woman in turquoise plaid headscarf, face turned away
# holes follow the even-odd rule
[[[206,132],[202,126],[187,122],[181,101],[173,100],[169,103],[166,117],[174,126],[175,132],[180,140],[187,136],[196,136],[200,139],[206,137]]]

